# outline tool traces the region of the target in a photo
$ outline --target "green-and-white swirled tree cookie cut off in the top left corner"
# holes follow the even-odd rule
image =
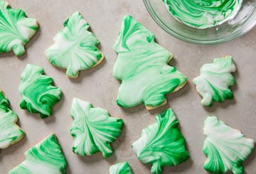
[[[15,55],[25,53],[24,46],[38,30],[35,18],[26,18],[21,9],[11,9],[6,1],[0,0],[0,52],[11,50]]]

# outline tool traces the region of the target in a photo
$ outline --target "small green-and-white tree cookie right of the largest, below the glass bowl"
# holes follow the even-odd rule
[[[225,99],[233,99],[230,86],[235,85],[235,78],[231,72],[236,67],[230,55],[224,58],[215,58],[213,63],[207,63],[201,67],[200,75],[193,79],[196,91],[203,97],[201,104],[210,106],[213,100],[224,102]]]

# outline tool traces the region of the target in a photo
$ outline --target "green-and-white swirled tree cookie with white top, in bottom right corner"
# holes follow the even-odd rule
[[[245,138],[237,129],[232,129],[219,121],[216,116],[208,116],[203,128],[206,141],[203,153],[208,157],[204,168],[211,173],[243,173],[242,162],[252,153],[255,141]]]

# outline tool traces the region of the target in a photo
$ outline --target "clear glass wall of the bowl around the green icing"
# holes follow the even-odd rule
[[[192,28],[177,21],[171,16],[162,0],[144,0],[144,4],[154,21],[167,33],[193,44],[225,43],[244,35],[256,24],[256,0],[244,0],[235,18],[220,26],[206,29]]]

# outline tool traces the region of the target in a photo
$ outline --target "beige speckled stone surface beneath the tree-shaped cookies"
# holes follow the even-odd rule
[[[143,165],[134,155],[131,145],[142,129],[154,123],[154,117],[171,107],[180,122],[186,138],[191,158],[176,167],[164,168],[164,173],[207,173],[203,169],[204,156],[203,121],[207,115],[216,115],[233,128],[240,129],[245,136],[256,139],[256,28],[242,38],[221,45],[191,45],[170,36],[153,21],[142,1],[68,1],[68,0],[12,0],[13,8],[26,11],[28,17],[37,18],[40,29],[26,45],[26,55],[16,58],[13,53],[0,55],[0,88],[10,99],[11,109],[19,116],[19,124],[26,136],[16,145],[0,151],[0,173],[8,173],[11,168],[24,160],[24,152],[55,132],[68,161],[67,173],[108,173],[110,165],[121,161],[129,162],[134,173],[150,173],[150,165]],[[75,11],[80,11],[100,40],[100,50],[105,60],[91,70],[80,72],[80,77],[70,80],[65,70],[60,70],[48,62],[44,51],[53,44],[53,36],[63,29],[63,22]],[[117,38],[124,15],[130,14],[146,28],[155,33],[156,41],[174,54],[170,65],[188,77],[188,83],[174,94],[168,94],[168,104],[153,111],[146,111],[143,105],[122,109],[115,103],[119,81],[112,76],[112,67],[117,58],[112,46]],[[238,71],[233,75],[237,85],[231,87],[234,99],[213,107],[202,107],[201,97],[192,84],[193,77],[199,75],[200,67],[213,58],[233,55]],[[63,90],[63,99],[53,107],[53,116],[41,120],[19,108],[21,96],[18,94],[21,72],[28,63],[44,68],[46,75],[53,77],[55,85]],[[73,138],[69,129],[73,119],[69,116],[73,97],[90,101],[95,107],[107,109],[112,116],[124,120],[124,129],[117,141],[112,143],[114,154],[104,159],[100,153],[82,158],[71,151]],[[256,173],[256,151],[245,161],[245,172]]]

